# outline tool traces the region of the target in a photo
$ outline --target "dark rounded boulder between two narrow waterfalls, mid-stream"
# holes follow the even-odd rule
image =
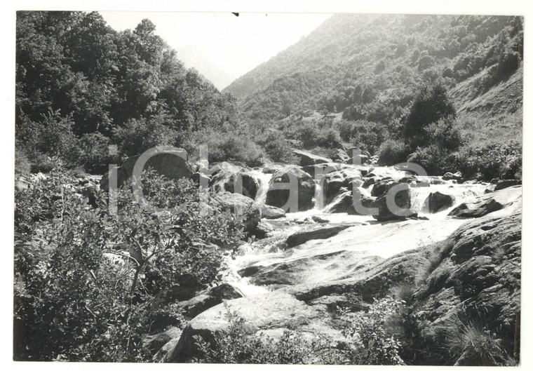
[[[292,180],[292,183],[290,183]],[[283,185],[285,184],[285,185]],[[289,189],[290,184],[294,189]],[[285,187],[281,189],[278,187]],[[292,208],[293,205],[285,205],[289,201],[290,191],[297,196],[298,210]],[[288,166],[277,170],[272,175],[267,191],[267,205],[276,206],[276,208],[290,208],[290,211],[305,211],[313,208],[313,197],[315,195],[315,182],[313,178],[304,170],[297,166]]]

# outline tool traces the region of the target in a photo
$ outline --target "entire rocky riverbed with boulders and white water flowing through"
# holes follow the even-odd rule
[[[250,238],[227,253],[220,290],[179,303],[192,320],[182,332],[163,336],[154,360],[187,362],[198,356],[196,335],[212,339],[227,328],[223,305],[236,309],[257,333],[276,338],[296,323],[300,332],[328,337],[335,346],[343,339],[332,308],[356,293],[364,309],[402,285],[412,290],[410,318],[417,318],[417,328],[426,321],[426,332],[417,337],[426,343],[419,346],[438,342],[439,322],[465,313],[474,318],[483,307],[487,329],[506,339],[506,351],[513,352],[520,311],[520,185],[465,180],[460,174],[417,176],[367,157],[353,165],[349,156],[332,161],[304,151],[296,155],[299,165],[253,169],[205,161],[172,165],[187,166],[201,187],[217,192],[217,202],[244,213]],[[163,161],[157,170],[170,177],[189,171],[168,167]],[[123,182],[128,169],[119,176]],[[288,182],[297,191],[297,210],[281,209],[290,194],[279,186]],[[401,187],[396,203],[408,210],[403,216],[391,213],[385,202],[395,186]],[[358,212],[353,194],[377,213]],[[435,269],[421,278],[429,261]],[[518,277],[514,284],[509,275]],[[449,362],[442,349],[421,358],[419,363]],[[463,354],[457,364],[479,361]]]

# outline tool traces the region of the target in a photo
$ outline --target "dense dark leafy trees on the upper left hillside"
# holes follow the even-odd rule
[[[19,170],[47,171],[60,159],[98,173],[107,144],[132,156],[236,126],[234,99],[186,69],[154,30],[143,20],[116,32],[95,12],[18,12]]]

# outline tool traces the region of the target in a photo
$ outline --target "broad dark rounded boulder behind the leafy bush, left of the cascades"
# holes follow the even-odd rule
[[[133,168],[140,156],[128,158],[122,166],[117,169],[117,185],[122,187],[124,184],[130,182]],[[174,149],[172,151],[163,151],[163,148],[156,147],[154,156],[151,156],[144,164],[144,170],[153,168],[157,173],[165,175],[170,180],[178,180],[182,177],[190,179],[192,170],[187,161],[187,151],[184,149]],[[104,190],[109,189],[109,173],[102,176],[100,180],[100,188]]]

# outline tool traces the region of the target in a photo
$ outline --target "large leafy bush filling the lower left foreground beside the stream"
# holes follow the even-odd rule
[[[142,338],[180,325],[173,290],[220,279],[213,243],[236,243],[241,220],[203,208],[188,180],[142,182],[147,201],[182,213],[148,213],[128,189],[118,215],[103,194],[90,208],[60,170],[15,193],[15,359],[147,360]]]

